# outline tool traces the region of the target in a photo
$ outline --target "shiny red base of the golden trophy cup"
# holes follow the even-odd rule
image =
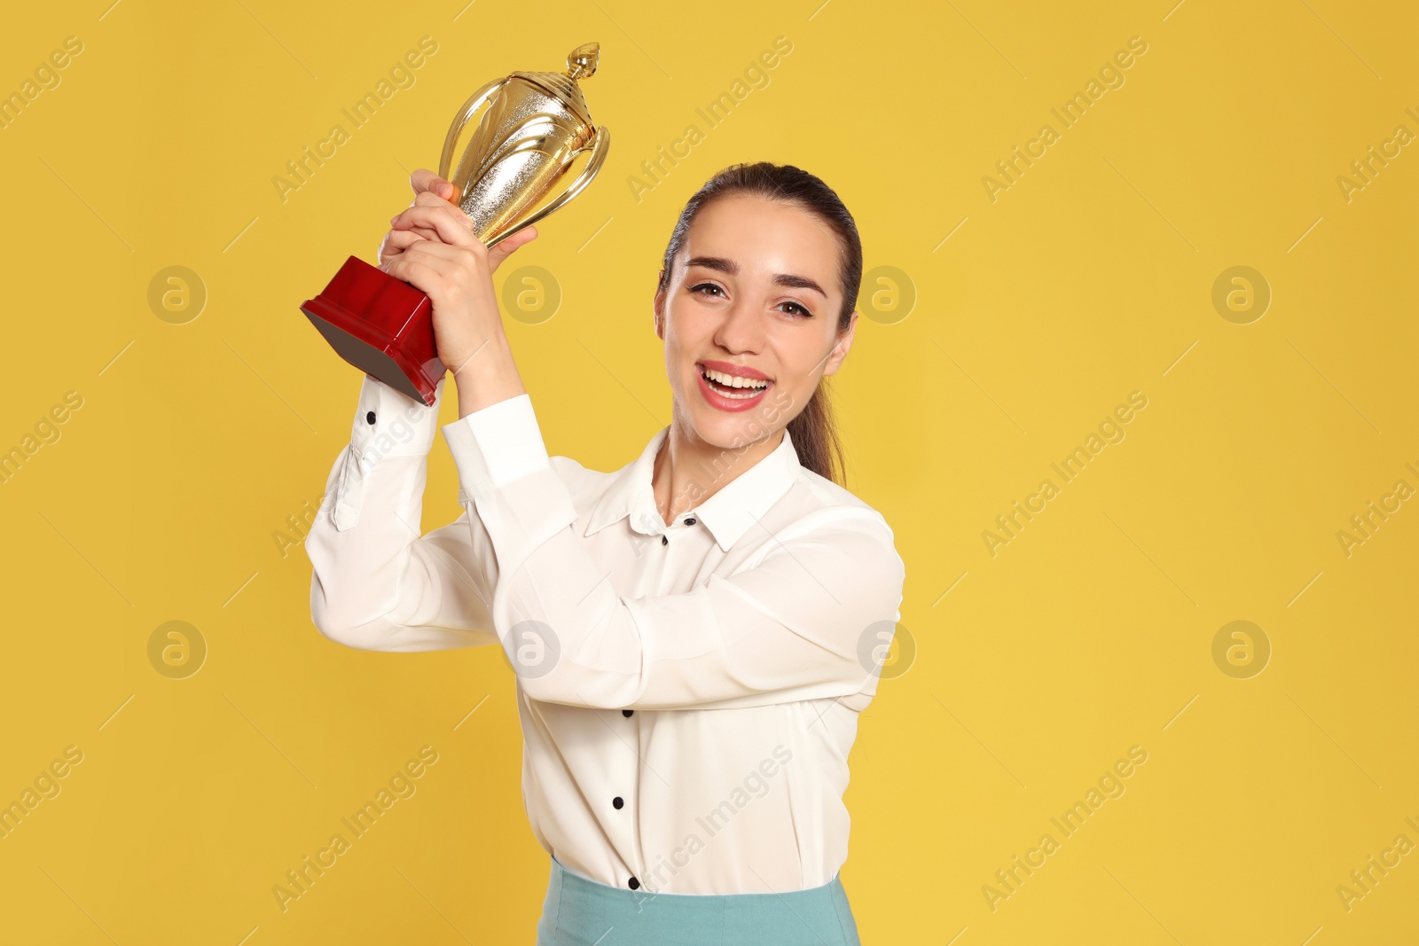
[[[414,400],[434,403],[434,386],[448,369],[434,346],[427,295],[350,257],[301,311],[346,362]]]

